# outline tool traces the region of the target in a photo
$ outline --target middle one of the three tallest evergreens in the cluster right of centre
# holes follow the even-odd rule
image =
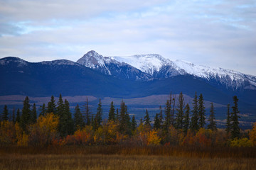
[[[193,99],[193,110],[191,111],[193,113],[192,118],[191,118],[191,125],[190,128],[191,130],[198,130],[198,98],[197,95],[195,94],[195,98]]]

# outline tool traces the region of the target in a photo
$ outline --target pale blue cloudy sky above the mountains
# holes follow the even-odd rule
[[[256,75],[256,0],[0,0],[0,58],[159,54]]]

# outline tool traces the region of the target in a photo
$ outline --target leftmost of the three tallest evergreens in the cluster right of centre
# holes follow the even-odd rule
[[[184,103],[184,97],[182,92],[179,94],[178,96],[178,108],[176,108],[177,110],[177,115],[176,115],[176,128],[177,129],[182,129],[183,128],[183,108],[185,106]]]

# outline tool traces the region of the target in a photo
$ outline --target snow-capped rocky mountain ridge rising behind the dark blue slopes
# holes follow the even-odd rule
[[[90,51],[78,60],[78,63],[119,78],[149,80],[189,74],[210,84],[233,90],[256,89],[255,76],[219,67],[196,65],[182,60],[172,61],[157,54],[103,57],[95,51]]]

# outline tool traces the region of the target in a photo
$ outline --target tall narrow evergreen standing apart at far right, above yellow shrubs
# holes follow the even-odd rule
[[[233,111],[231,113],[231,137],[232,139],[234,139],[235,137],[239,137],[240,136],[240,128],[239,128],[239,122],[238,122],[238,118],[240,118],[238,116],[238,97],[237,96],[233,96],[233,101],[234,101],[234,106],[232,107]]]

